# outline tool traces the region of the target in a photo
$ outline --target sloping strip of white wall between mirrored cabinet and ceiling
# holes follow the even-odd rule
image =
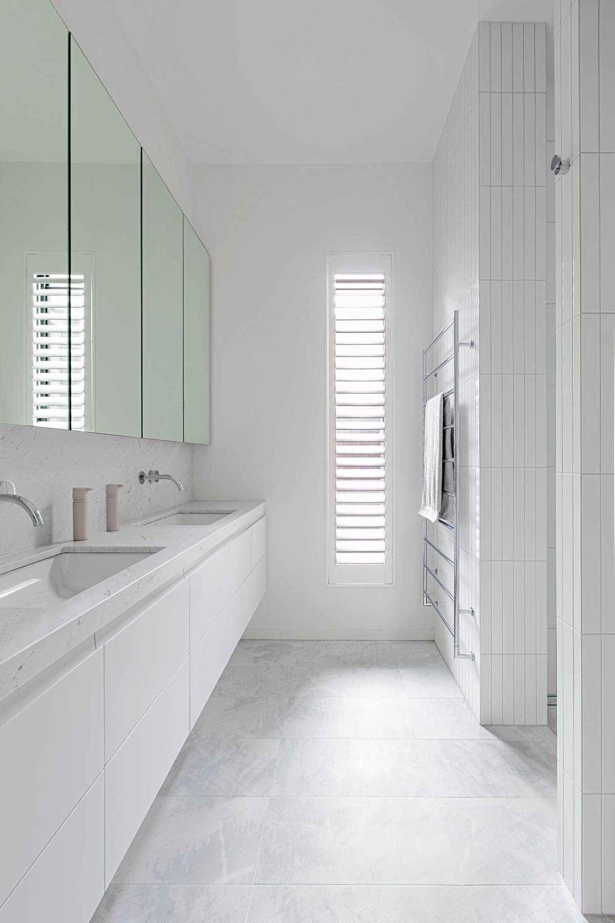
[[[53,6],[190,219],[192,164],[112,0],[54,0]]]

